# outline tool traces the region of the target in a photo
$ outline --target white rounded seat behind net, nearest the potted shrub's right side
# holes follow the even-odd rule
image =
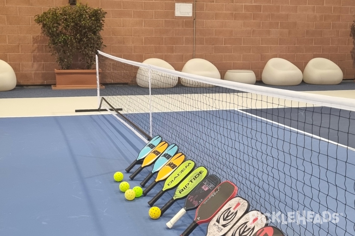
[[[168,62],[159,58],[149,58],[143,63],[155,65],[165,69],[175,70]],[[171,88],[178,84],[178,76],[172,76],[163,72],[152,70],[151,88]],[[149,88],[148,69],[140,67],[137,71],[137,84],[141,87]]]

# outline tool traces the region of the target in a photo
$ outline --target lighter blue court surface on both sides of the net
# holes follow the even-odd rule
[[[270,224],[285,235],[353,235],[355,154],[351,147],[280,129],[237,110],[203,113],[214,122],[196,120],[182,127],[181,117],[202,115],[198,111],[153,113],[153,134],[184,147],[179,151],[188,159],[235,183],[238,195],[250,202],[251,209],[343,214],[337,224]],[[148,114],[128,116],[144,120]],[[226,116],[232,116],[235,123],[222,124]],[[163,183],[146,197],[125,200],[113,174],[125,173],[145,142],[113,115],[0,118],[0,130],[0,235],[170,236],[180,235],[192,222],[195,211],[188,212],[173,229],[165,226],[184,200],[174,203],[163,217],[149,218],[147,202]],[[172,130],[185,130],[189,136]],[[338,142],[352,143],[338,138]],[[202,156],[201,150],[210,152]],[[125,173],[124,180],[137,186],[150,170],[144,169],[134,181]],[[173,192],[155,205],[162,207]],[[206,228],[207,224],[198,226],[191,235],[205,235]]]

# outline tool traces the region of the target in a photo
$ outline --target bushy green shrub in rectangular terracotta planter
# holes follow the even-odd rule
[[[34,21],[42,26],[43,35],[48,37],[48,47],[61,69],[56,69],[56,85],[52,88],[95,88],[95,51],[103,48],[100,31],[104,27],[106,12],[78,2],[53,7]],[[84,68],[72,68],[73,57],[79,54]]]

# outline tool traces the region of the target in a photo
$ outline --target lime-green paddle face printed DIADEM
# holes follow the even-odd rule
[[[163,191],[175,188],[175,186],[178,185],[181,180],[184,179],[186,175],[188,175],[193,170],[194,167],[195,162],[191,160],[187,160],[182,163],[179,167],[175,169],[173,173],[169,175],[168,178],[166,178],[163,186]]]

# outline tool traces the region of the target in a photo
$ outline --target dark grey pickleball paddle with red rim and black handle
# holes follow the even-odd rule
[[[237,186],[228,180],[220,183],[198,206],[195,219],[180,236],[190,235],[198,225],[209,222],[237,191]]]

